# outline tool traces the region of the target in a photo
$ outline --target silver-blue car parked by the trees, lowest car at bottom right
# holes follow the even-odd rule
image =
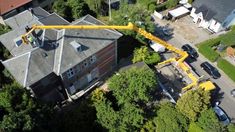
[[[228,125],[230,123],[230,120],[228,116],[225,114],[225,112],[219,107],[215,106],[214,108],[216,116],[219,118],[219,121],[223,123],[224,125]]]

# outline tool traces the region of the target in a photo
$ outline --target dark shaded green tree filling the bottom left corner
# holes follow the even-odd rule
[[[0,130],[32,131],[48,127],[51,110],[34,101],[17,83],[5,85],[0,92]]]

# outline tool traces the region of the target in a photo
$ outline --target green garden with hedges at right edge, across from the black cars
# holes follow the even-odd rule
[[[217,66],[235,82],[235,66],[225,60],[226,48],[235,47],[235,26],[229,32],[217,38],[209,39],[197,44],[198,51],[211,62],[217,62]],[[221,49],[222,47],[222,49]]]

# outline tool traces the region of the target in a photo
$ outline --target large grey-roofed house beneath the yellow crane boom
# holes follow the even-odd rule
[[[116,67],[122,34],[115,30],[36,30],[31,44],[22,44],[20,36],[33,24],[103,25],[90,15],[69,23],[40,7],[33,10],[6,19],[12,31],[1,35],[0,42],[14,56],[3,65],[35,97],[48,102],[77,99]]]

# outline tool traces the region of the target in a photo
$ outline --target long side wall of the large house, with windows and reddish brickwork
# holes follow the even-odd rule
[[[89,84],[88,78],[91,80],[96,80],[105,76],[116,66],[116,52],[115,41],[93,55],[96,58],[94,63],[89,63],[87,66],[84,65],[85,62],[89,62],[90,58],[92,58],[91,56],[74,66],[72,68],[74,71],[73,77],[68,78],[67,72],[63,73],[62,78],[64,87],[67,88],[70,94],[74,94],[76,93],[75,91],[80,91],[86,88],[86,86]]]

